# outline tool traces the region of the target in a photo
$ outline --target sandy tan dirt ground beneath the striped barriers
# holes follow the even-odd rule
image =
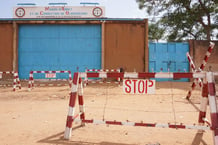
[[[127,95],[117,84],[84,88],[87,119],[198,124],[200,89],[187,101],[191,82],[160,82],[154,95]],[[0,88],[0,145],[212,145],[212,131],[79,123],[63,139],[68,86]],[[78,103],[76,104],[78,110]],[[208,107],[209,108],[209,107]],[[78,111],[76,111],[78,112]],[[207,113],[208,119],[209,109]]]

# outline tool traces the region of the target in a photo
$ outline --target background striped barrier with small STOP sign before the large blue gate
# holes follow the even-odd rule
[[[69,86],[71,87],[72,84],[72,74],[71,71],[30,71],[29,73],[29,84],[28,84],[28,90],[30,91],[31,88],[33,88],[34,86],[66,86],[66,84],[36,84],[34,85],[34,78],[33,78],[33,74],[35,73],[44,73],[45,76],[47,78],[55,78],[56,77],[56,73],[68,73],[69,74]],[[57,80],[66,80],[66,79],[57,79]]]

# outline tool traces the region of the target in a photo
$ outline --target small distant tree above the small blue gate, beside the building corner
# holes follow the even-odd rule
[[[159,41],[164,36],[164,29],[158,23],[149,24],[148,38],[151,41]]]

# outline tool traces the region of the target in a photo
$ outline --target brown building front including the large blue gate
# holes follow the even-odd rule
[[[0,71],[148,71],[147,19],[0,20]]]

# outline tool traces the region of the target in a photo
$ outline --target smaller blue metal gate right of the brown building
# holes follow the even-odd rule
[[[189,72],[188,43],[149,43],[149,72]],[[172,81],[172,79],[157,79]],[[188,81],[180,79],[174,81]]]

